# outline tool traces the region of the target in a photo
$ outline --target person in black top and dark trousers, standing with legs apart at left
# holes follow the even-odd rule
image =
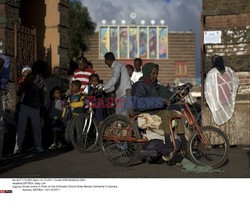
[[[42,130],[40,119],[40,108],[43,106],[43,90],[38,85],[40,82],[39,75],[34,76],[30,73],[22,83],[18,91],[20,101],[20,111],[18,116],[17,138],[14,153],[22,152],[22,144],[25,137],[27,121],[31,119],[34,145],[37,152],[43,152],[42,147]]]

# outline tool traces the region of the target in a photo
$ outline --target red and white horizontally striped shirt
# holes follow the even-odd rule
[[[73,75],[73,78],[72,78],[72,81],[74,80],[79,80],[81,81],[81,89],[80,91],[83,92],[85,87],[89,84],[89,77],[95,73],[95,71],[88,67],[86,68],[84,71],[80,70],[80,69],[77,69],[75,72],[74,72],[74,75]]]

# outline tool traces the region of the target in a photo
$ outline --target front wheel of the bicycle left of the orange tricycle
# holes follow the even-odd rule
[[[97,121],[86,113],[77,116],[71,125],[70,139],[78,151],[93,151],[98,143]]]

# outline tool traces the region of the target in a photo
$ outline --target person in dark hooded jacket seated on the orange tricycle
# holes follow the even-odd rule
[[[170,103],[175,102],[175,99],[171,99],[174,93],[158,83],[158,65],[154,63],[147,63],[143,66],[142,73],[143,76],[140,80],[132,86],[134,111],[136,113],[146,112],[156,114],[161,117],[162,123],[160,124],[159,129],[164,131],[165,136],[169,136],[169,119],[176,116],[177,113],[175,111],[166,110],[166,108],[170,105]],[[177,122],[176,131],[178,135],[184,134],[184,126],[181,120],[178,120]],[[176,140],[176,146],[177,149],[180,149],[180,140]],[[167,143],[150,146],[150,148],[153,147],[156,147],[158,152],[160,152],[163,156],[167,156],[172,150]]]

